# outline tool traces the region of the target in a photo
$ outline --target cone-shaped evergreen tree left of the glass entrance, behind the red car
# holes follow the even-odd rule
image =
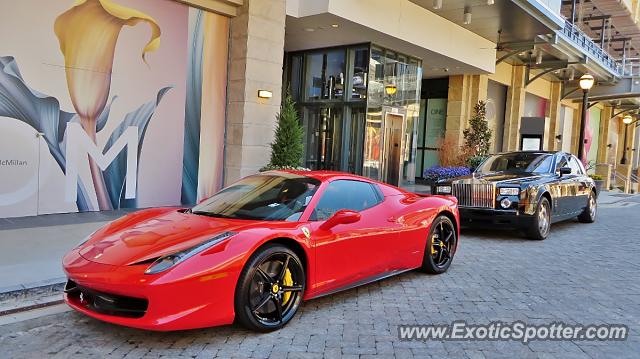
[[[278,126],[271,143],[271,161],[261,171],[272,169],[304,169],[302,157],[304,155],[304,130],[298,119],[298,110],[289,91],[285,94],[280,106],[280,113],[276,115]]]

